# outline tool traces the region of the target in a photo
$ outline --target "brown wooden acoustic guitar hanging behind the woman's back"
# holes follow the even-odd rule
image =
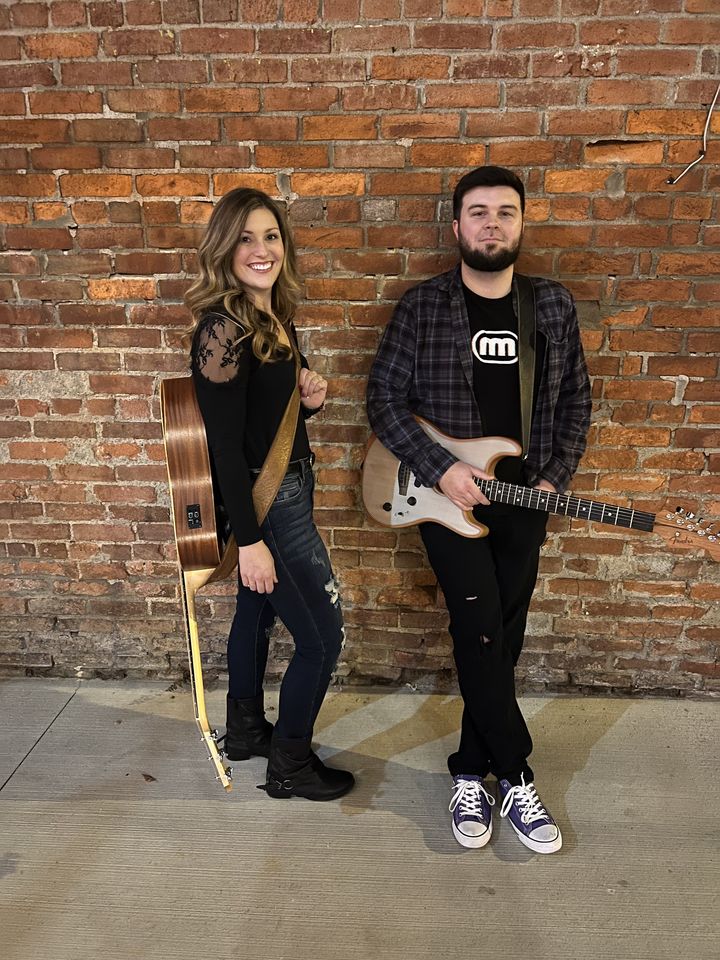
[[[210,726],[205,705],[195,595],[206,584],[230,576],[237,566],[237,547],[217,505],[205,424],[192,377],[163,380],[160,407],[195,722],[215,766],[216,779],[230,790],[232,770],[218,749],[220,738]]]

